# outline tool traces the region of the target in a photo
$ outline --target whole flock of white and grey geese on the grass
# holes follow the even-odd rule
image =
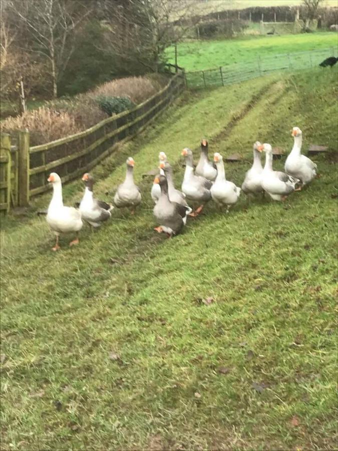
[[[187,221],[187,216],[197,216],[203,205],[213,199],[219,206],[225,206],[226,212],[234,205],[243,191],[245,194],[266,192],[273,200],[285,200],[293,191],[299,191],[316,176],[316,164],[301,154],[302,132],[293,127],[294,143],[285,161],[285,172],[274,171],[272,168],[272,147],[256,141],[253,145],[253,164],[246,172],[241,188],[225,177],[222,156],[216,152],[213,162],[208,158],[208,142],[201,141],[201,155],[194,169],[193,154],[189,148],[182,150],[185,159],[185,172],[181,189],[175,188],[172,168],[164,152],[159,153],[160,173],[155,177],[151,188],[151,197],[155,202],[154,216],[159,224],[155,230],[165,233],[170,238],[179,234]],[[261,152],[265,152],[264,168],[261,164]],[[134,183],[134,159],[127,159],[126,177],[114,196],[114,204],[98,200],[93,194],[94,179],[89,174],[83,175],[85,184],[83,198],[77,207],[68,207],[63,203],[62,183],[60,176],[52,172],[48,181],[53,185],[53,196],[47,210],[47,222],[56,235],[53,251],[60,249],[59,235],[61,233],[76,233],[76,239],[70,246],[79,243],[79,231],[83,221],[97,228],[109,219],[114,207],[129,207],[135,212],[135,207],[141,203],[141,192]],[[296,187],[297,186],[297,187]],[[193,210],[188,202],[196,208]]]

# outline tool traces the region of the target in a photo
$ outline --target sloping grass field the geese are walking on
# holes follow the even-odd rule
[[[3,449],[335,448],[335,165],[316,158],[321,178],[285,205],[242,197],[225,215],[210,204],[173,240],[152,231],[141,180],[164,149],[180,182],[179,151],[204,134],[212,151],[247,157],[226,167],[237,183],[252,142],[289,149],[295,124],[305,148],[334,148],[336,105],[322,100],[334,80],[318,69],[185,94],[95,171],[104,197],[134,155],[138,214],[116,211],[75,249],[64,238],[50,252],[33,214],[3,221]],[[66,202],[81,191],[67,185]]]

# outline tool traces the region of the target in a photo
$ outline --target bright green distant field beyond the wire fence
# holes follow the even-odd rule
[[[179,44],[178,65],[187,71],[197,71],[233,63],[251,62],[279,53],[336,47],[335,33],[313,33],[250,37],[222,41],[191,41]],[[167,49],[168,62],[174,63],[174,48]]]

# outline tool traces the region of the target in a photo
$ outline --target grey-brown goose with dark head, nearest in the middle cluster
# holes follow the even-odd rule
[[[160,225],[154,230],[158,233],[166,233],[168,238],[171,238],[182,231],[186,223],[187,214],[191,209],[188,206],[169,200],[168,182],[164,175],[157,175],[154,183],[159,184],[161,188],[160,198],[153,210],[154,216]]]

